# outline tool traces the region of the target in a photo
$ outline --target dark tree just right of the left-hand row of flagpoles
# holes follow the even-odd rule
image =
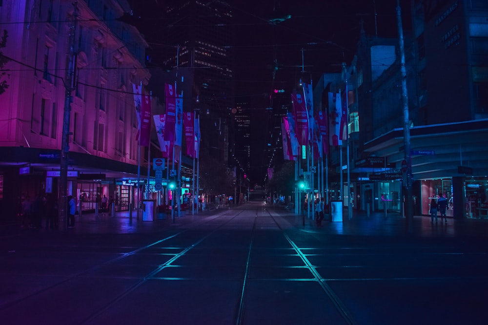
[[[199,186],[209,196],[226,194],[234,195],[234,177],[217,158],[200,154]]]

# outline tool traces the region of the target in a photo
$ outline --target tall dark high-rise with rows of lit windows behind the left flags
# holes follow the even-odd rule
[[[177,78],[177,92],[183,91],[184,111],[200,112],[201,152],[230,163],[229,135],[233,132],[229,128],[234,108],[231,7],[225,1],[169,1],[165,19],[169,23],[161,41],[170,47],[158,50],[153,64],[160,57],[166,67],[190,70],[190,80]]]

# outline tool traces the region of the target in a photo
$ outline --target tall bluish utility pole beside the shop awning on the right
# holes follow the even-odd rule
[[[412,207],[412,161],[410,157],[410,117],[408,115],[407,95],[407,71],[405,70],[405,48],[402,27],[402,9],[400,0],[397,0],[398,34],[400,38],[400,59],[402,73],[402,102],[403,102],[403,133],[405,142],[405,161],[407,161],[407,173],[405,179],[405,216],[407,217],[408,231],[413,231],[413,207]]]

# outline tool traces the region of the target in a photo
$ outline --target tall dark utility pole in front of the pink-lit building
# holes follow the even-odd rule
[[[60,157],[60,182],[59,182],[59,229],[66,230],[66,220],[68,214],[68,202],[66,200],[68,188],[68,152],[69,152],[69,121],[71,114],[71,93],[75,89],[75,29],[78,16],[78,1],[73,2],[73,16],[70,18],[70,25],[68,28],[68,67],[64,78],[64,113],[62,121],[62,136],[61,136],[61,157]]]

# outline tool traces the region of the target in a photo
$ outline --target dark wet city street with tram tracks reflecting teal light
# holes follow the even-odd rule
[[[78,218],[77,218],[78,219]],[[79,222],[78,222],[79,221]],[[485,324],[488,224],[322,227],[261,202],[1,229],[3,324]],[[12,226],[13,227],[13,226]]]

